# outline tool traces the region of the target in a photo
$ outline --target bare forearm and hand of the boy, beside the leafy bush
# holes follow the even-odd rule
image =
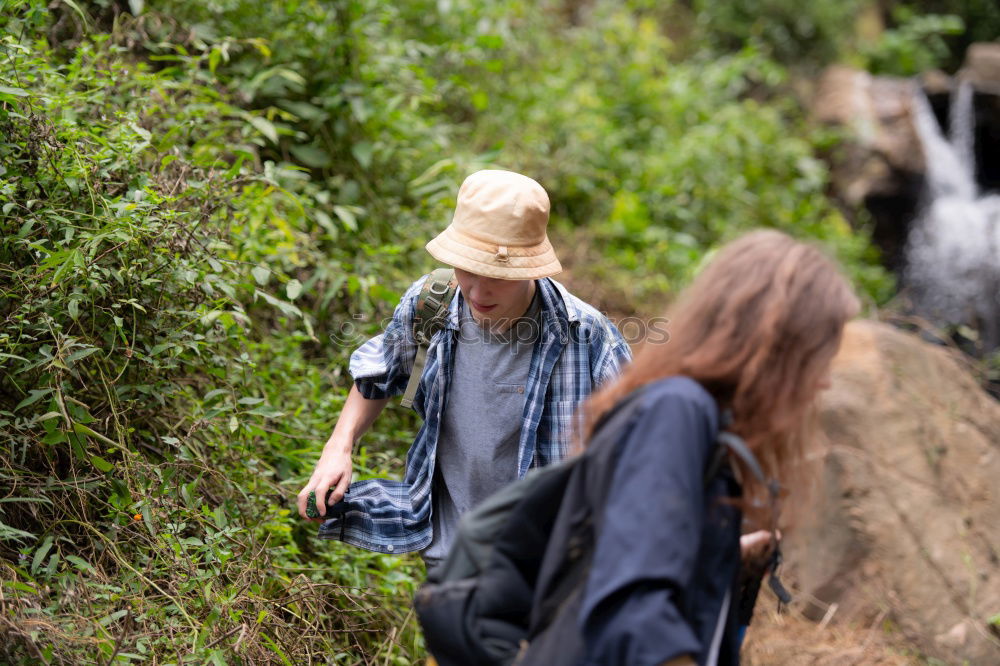
[[[326,516],[326,495],[330,489],[333,489],[333,494],[330,495],[331,503],[339,502],[344,496],[351,483],[351,453],[354,444],[371,427],[389,400],[391,398],[369,400],[361,395],[357,386],[351,387],[344,409],[337,419],[337,425],[330,438],[326,440],[323,454],[316,463],[316,469],[313,470],[309,483],[299,492],[300,516],[309,518],[306,515],[306,501],[310,492],[316,492],[316,508],[319,509],[321,516]]]

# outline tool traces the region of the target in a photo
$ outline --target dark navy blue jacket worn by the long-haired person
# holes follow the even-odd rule
[[[728,466],[705,482],[719,412],[697,382],[654,383],[619,442],[579,616],[585,664],[659,665],[709,653],[727,591],[718,664],[739,663],[740,512]]]

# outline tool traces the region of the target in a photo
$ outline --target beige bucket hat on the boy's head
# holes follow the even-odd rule
[[[448,228],[427,243],[440,262],[476,275],[535,280],[562,270],[545,233],[549,195],[513,171],[477,171],[458,190]]]

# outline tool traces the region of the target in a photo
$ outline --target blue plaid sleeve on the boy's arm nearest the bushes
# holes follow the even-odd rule
[[[417,342],[413,338],[413,316],[417,298],[427,276],[406,290],[381,335],[368,340],[351,354],[350,372],[361,395],[369,400],[402,395],[413,369]]]

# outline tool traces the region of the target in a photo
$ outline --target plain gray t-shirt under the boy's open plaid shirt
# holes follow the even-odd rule
[[[424,560],[443,560],[458,518],[517,479],[524,392],[535,342],[541,335],[538,292],[507,331],[493,333],[462,305],[448,400],[437,442],[431,524]]]

